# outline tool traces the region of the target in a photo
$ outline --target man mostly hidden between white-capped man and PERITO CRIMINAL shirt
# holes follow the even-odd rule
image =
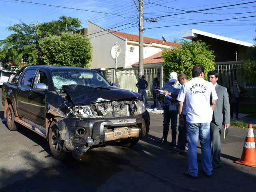
[[[186,74],[181,73],[178,75],[178,81],[183,85],[188,82],[188,77]],[[181,90],[180,90],[181,91]],[[179,135],[177,148],[172,152],[172,154],[184,154],[185,149],[188,149],[188,140],[187,140],[187,121],[186,121],[187,111],[186,111],[186,102],[183,102],[182,115],[179,117]]]

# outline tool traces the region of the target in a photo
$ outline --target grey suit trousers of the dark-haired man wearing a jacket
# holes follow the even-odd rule
[[[220,133],[221,127],[216,124],[215,120],[213,119],[210,126],[210,136],[211,136],[211,150],[212,150],[212,166],[218,167],[221,165],[220,160]]]

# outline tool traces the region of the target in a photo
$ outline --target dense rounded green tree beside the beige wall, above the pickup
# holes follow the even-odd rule
[[[92,60],[90,40],[80,34],[62,33],[39,41],[39,63],[42,65],[89,67]]]

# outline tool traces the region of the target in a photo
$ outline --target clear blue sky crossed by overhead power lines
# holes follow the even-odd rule
[[[10,34],[6,28],[23,22],[48,22],[57,20],[60,16],[72,16],[79,18],[82,21],[83,27],[87,27],[87,20],[103,28],[111,28],[127,23],[136,23],[138,10],[135,7],[133,0],[28,0],[31,2],[52,4],[58,6],[66,6],[98,12],[106,12],[117,15],[100,14],[79,10],[70,10],[65,8],[56,8],[50,6],[34,5],[24,2],[14,2],[12,0],[0,0],[0,39],[6,38]],[[138,0],[135,0],[136,2]],[[144,18],[154,18],[170,14],[181,13],[182,11],[163,7],[168,6],[186,11],[200,10],[204,8],[213,8],[218,6],[226,6],[231,4],[240,4],[252,2],[253,0],[144,0]],[[151,3],[150,3],[151,2]],[[158,6],[155,4],[161,4]],[[230,14],[244,13],[256,11],[256,2],[218,10],[206,10],[205,13],[218,14],[202,14],[202,13],[187,13],[176,16],[168,16],[159,18],[158,22],[144,22],[144,36],[161,39],[164,36],[166,40],[173,41],[174,38],[182,38],[181,34],[191,28],[198,30],[220,34],[229,38],[255,43],[253,38],[256,36],[256,17],[242,18],[236,20],[228,20],[221,22],[212,22],[205,24],[190,24],[185,26],[174,26],[167,28],[148,29],[152,27],[170,26],[176,24],[188,24],[200,22],[202,20],[221,20],[226,18],[237,18],[245,16],[256,16],[255,13],[246,14]],[[221,14],[220,14],[221,13]],[[223,14],[224,13],[224,14]],[[131,25],[126,25],[115,30],[120,30]],[[138,34],[138,28],[128,28],[122,32]]]

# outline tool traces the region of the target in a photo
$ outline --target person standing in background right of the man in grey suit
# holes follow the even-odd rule
[[[236,119],[238,119],[239,113],[239,103],[240,103],[240,88],[238,86],[238,81],[234,81],[233,86],[230,88],[231,98],[230,98],[230,115],[233,119],[233,113],[236,112]]]

